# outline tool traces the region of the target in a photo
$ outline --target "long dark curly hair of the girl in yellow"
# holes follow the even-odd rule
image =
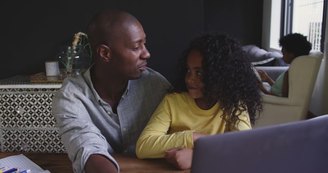
[[[254,125],[256,116],[262,111],[259,80],[240,43],[227,34],[203,34],[192,40],[178,60],[173,89],[169,92],[188,92],[185,84],[186,61],[193,49],[203,55],[203,95],[207,103],[220,103],[224,112],[221,117],[226,120],[226,125],[239,123],[238,115],[242,111],[248,111],[250,122]],[[223,117],[225,113],[228,117]]]

